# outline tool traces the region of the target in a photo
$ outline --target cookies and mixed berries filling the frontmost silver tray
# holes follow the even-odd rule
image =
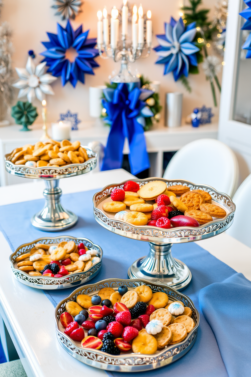
[[[190,316],[184,314],[186,308]],[[65,304],[65,309],[60,316],[60,330],[83,348],[111,355],[151,355],[181,342],[195,327],[189,307],[181,301],[169,302],[166,293],[152,292],[147,285],[131,290],[122,285],[118,291],[105,287],[92,297],[79,294],[76,301]]]

